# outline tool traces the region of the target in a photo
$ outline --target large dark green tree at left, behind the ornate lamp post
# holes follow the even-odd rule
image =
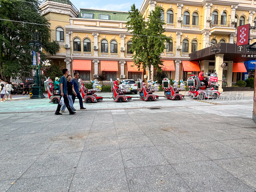
[[[40,15],[37,0],[3,0],[0,1],[0,72],[4,79],[29,76],[32,65],[31,31],[42,33],[44,52],[56,54],[60,46],[56,41],[50,42],[50,23]],[[12,21],[9,21],[12,20]],[[24,23],[29,22],[29,23]],[[42,25],[36,25],[36,24]],[[39,50],[41,61],[46,59]]]

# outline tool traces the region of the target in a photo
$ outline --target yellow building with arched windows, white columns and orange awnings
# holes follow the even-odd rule
[[[166,45],[167,49],[161,54],[162,59],[170,70],[169,77],[177,80],[186,80],[191,72],[197,74],[199,68],[212,72],[214,57],[213,60],[212,57],[191,60],[191,53],[215,42],[235,44],[237,26],[256,23],[256,1],[252,0],[145,0],[140,12],[146,18],[156,6],[162,7],[165,35],[172,37],[172,43]],[[43,1],[40,8],[52,25],[51,39],[60,44],[60,51],[48,56],[56,65],[79,71],[85,81],[96,78],[101,71],[105,71],[107,79],[151,79],[147,76],[148,69],[138,72],[131,67],[132,54],[128,51],[131,34],[125,28],[128,12],[82,8],[78,11],[71,2],[64,0]],[[256,37],[256,31],[251,30],[250,35]],[[243,72],[233,72],[233,59],[224,55],[217,54],[216,71],[219,77],[227,78],[231,86],[232,82],[243,79]],[[255,57],[249,59],[255,60]],[[226,63],[225,68],[220,68],[222,63]],[[222,79],[219,80],[221,84]]]

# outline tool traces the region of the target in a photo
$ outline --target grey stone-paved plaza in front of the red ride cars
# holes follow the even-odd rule
[[[103,99],[73,116],[28,98],[0,103],[0,192],[256,191],[253,92]]]

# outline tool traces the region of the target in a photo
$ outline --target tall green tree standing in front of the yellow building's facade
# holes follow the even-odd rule
[[[133,60],[135,65],[140,68],[148,67],[148,75],[151,78],[151,66],[157,71],[161,71],[163,61],[161,53],[166,49],[165,42],[170,43],[171,38],[163,33],[165,29],[164,21],[161,20],[161,7],[156,6],[155,11],[149,12],[147,20],[142,17],[135,5],[131,6],[126,27],[131,31],[132,45],[131,52],[134,53]]]

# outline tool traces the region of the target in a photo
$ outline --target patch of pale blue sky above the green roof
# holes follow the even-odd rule
[[[127,2],[124,0],[115,1],[115,0],[93,0],[93,1],[84,1],[84,0],[70,0],[72,4],[75,5],[77,9],[87,8],[87,9],[103,9],[110,11],[129,11],[131,5],[135,4],[136,8],[140,9],[140,6],[143,0],[129,0]]]

